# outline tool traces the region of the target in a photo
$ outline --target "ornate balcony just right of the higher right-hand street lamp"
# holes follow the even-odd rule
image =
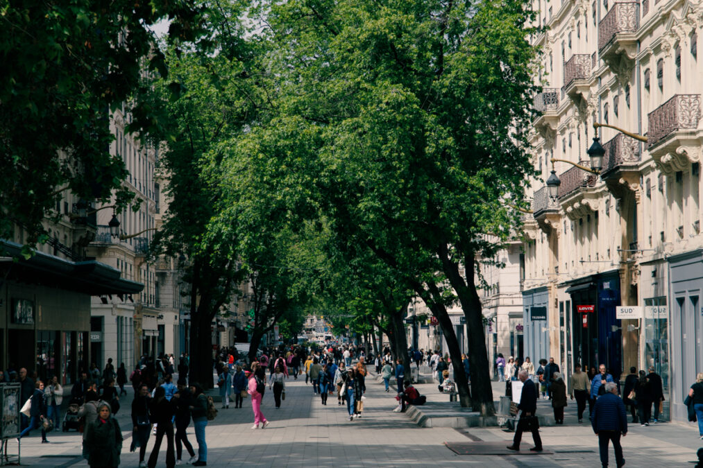
[[[634,138],[618,134],[603,145],[603,169],[600,177],[608,190],[618,199],[625,189],[634,189],[640,181],[640,143]]]

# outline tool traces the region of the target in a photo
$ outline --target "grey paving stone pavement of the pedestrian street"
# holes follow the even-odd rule
[[[244,408],[219,410],[217,419],[207,426],[208,466],[212,467],[447,467],[489,465],[501,467],[596,467],[598,439],[589,424],[576,424],[575,405],[567,407],[565,426],[541,429],[544,446],[554,455],[456,455],[444,442],[512,441],[512,434],[500,428],[423,429],[406,415],[392,412],[395,400],[383,391],[382,382],[373,377],[367,381],[363,416],[349,422],[345,406],[330,397],[328,405],[321,404],[312,386],[304,379],[289,379],[286,399],[276,410],[272,392],[267,390],[262,410],[271,424],[266,429],[250,429],[253,423],[251,401]],[[430,398],[444,399],[437,386],[418,385]],[[434,390],[434,393],[433,393]],[[215,393],[217,390],[214,391]],[[571,402],[569,402],[571,403]],[[129,396],[122,399],[118,420],[129,428]],[[449,404],[449,402],[447,402]],[[219,405],[218,405],[219,406]],[[542,409],[541,409],[542,410]],[[546,410],[544,408],[543,410]],[[572,416],[573,423],[569,420]],[[129,453],[131,431],[124,431],[123,467],[137,467],[137,453]],[[531,446],[531,436],[525,434],[523,450]],[[195,434],[188,428],[188,438],[194,445]],[[36,467],[87,466],[80,457],[81,434],[55,432],[49,434],[49,444],[41,444],[39,431],[22,439],[22,464]],[[702,441],[697,427],[687,424],[657,424],[631,427],[623,441],[627,467],[692,467],[695,451]],[[149,450],[153,444],[150,438]],[[8,453],[16,453],[17,443],[8,442]],[[614,466],[612,449],[611,466]],[[165,443],[157,466],[165,467]],[[184,465],[187,466],[187,465]]]

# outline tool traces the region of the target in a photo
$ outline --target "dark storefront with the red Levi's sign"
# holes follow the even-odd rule
[[[622,373],[622,331],[615,308],[620,305],[617,271],[568,283],[572,302],[572,354],[584,369],[605,364],[615,379]]]

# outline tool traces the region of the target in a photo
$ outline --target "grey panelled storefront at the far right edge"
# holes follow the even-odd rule
[[[696,381],[697,372],[703,372],[703,250],[669,257],[669,311],[671,318],[671,419],[688,421],[683,400],[688,389]],[[664,304],[659,305],[662,307]],[[654,304],[652,304],[654,306]],[[657,316],[662,309],[657,310]],[[653,310],[652,310],[653,312]],[[647,313],[645,309],[645,314]],[[654,317],[660,330],[668,331],[662,318]],[[652,356],[656,361],[666,361],[666,351],[657,350],[652,344]],[[659,346],[660,347],[660,346]],[[658,355],[657,355],[658,351]],[[663,379],[664,376],[662,376]]]

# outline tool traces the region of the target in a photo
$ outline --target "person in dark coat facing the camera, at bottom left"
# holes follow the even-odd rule
[[[122,452],[122,430],[117,419],[110,413],[110,405],[103,401],[98,405],[96,418],[86,424],[84,445],[88,448],[88,465],[91,468],[115,468],[120,466]]]

